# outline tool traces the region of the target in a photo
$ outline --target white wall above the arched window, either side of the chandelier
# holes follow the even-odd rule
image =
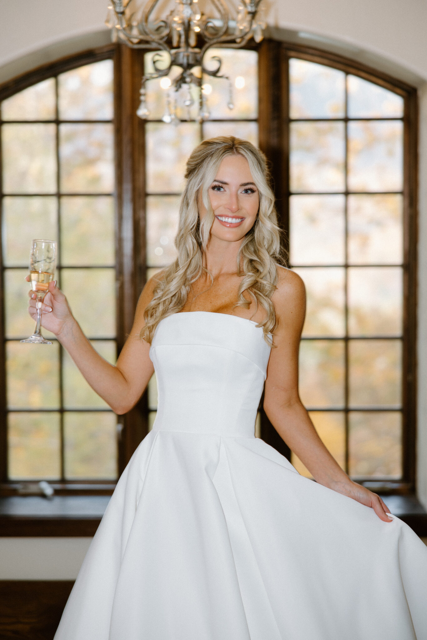
[[[427,80],[425,0],[264,2],[270,7],[268,22],[273,27],[318,34],[341,43],[349,56],[366,61],[382,58],[395,74],[399,70],[414,80]],[[26,63],[34,66],[49,58],[55,44],[105,31],[107,4],[107,0],[0,0],[0,82],[17,70],[15,61],[23,56],[32,54]],[[92,42],[99,37],[97,33]],[[105,37],[108,41],[108,33]],[[328,45],[334,43],[323,42]]]

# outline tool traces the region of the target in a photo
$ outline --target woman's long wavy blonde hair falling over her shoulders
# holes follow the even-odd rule
[[[243,237],[237,257],[238,275],[241,279],[236,307],[250,307],[249,297],[266,311],[266,317],[257,326],[262,327],[264,339],[271,345],[269,333],[276,327],[275,308],[271,296],[276,289],[277,266],[286,264],[282,250],[281,231],[277,225],[274,195],[270,187],[270,173],[266,157],[246,140],[234,136],[218,136],[204,140],[193,150],[187,162],[187,180],[179,208],[179,225],[175,238],[178,257],[163,270],[154,287],[153,297],[145,308],[145,326],[141,339],[151,343],[161,319],[181,311],[193,282],[202,272],[203,252],[209,242],[214,212],[209,200],[209,187],[214,182],[222,160],[231,154],[246,158],[252,178],[259,192],[259,209],[254,226]],[[206,208],[200,222],[198,198]],[[213,281],[212,275],[211,279]]]

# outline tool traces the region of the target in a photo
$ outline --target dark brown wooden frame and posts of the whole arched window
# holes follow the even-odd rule
[[[250,47],[254,48],[254,47]],[[343,70],[386,89],[398,92],[405,100],[404,138],[404,326],[403,326],[403,481],[380,487],[382,493],[414,494],[416,433],[416,292],[417,292],[417,91],[387,74],[337,54],[313,47],[264,40],[256,47],[259,53],[259,147],[271,166],[273,186],[281,227],[289,231],[289,77],[290,57],[302,58]],[[146,281],[145,250],[145,123],[136,116],[144,52],[125,45],[106,45],[44,65],[0,86],[0,100],[32,84],[106,58],[115,68],[115,166],[116,166],[116,284],[117,349],[124,345],[133,324],[134,310]],[[0,157],[1,161],[1,157]],[[1,170],[1,166],[0,166]],[[1,252],[1,247],[0,247]],[[0,255],[1,257],[1,255]],[[0,332],[4,331],[3,283],[0,282]],[[4,363],[1,342],[0,363]],[[0,366],[0,452],[6,451],[6,396],[4,364]],[[122,473],[138,444],[148,433],[147,392],[134,408],[118,417],[118,474]],[[278,436],[264,412],[261,412],[261,437],[287,458],[289,447]],[[6,482],[6,457],[0,457],[0,500],[17,495],[18,483]],[[61,495],[110,495],[114,483],[51,483]],[[40,498],[42,500],[42,498]],[[100,517],[15,518],[0,536],[6,535],[91,535]],[[1,523],[6,522],[0,514]],[[20,522],[20,525],[17,524]],[[421,527],[427,534],[427,520]],[[418,526],[418,525],[417,525]],[[423,529],[424,527],[424,529]],[[419,526],[418,526],[419,528]],[[420,531],[421,531],[420,529]],[[49,530],[49,532],[47,532]]]

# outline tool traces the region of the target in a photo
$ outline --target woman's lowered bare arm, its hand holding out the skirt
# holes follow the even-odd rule
[[[318,436],[298,394],[298,351],[305,317],[305,288],[293,271],[278,269],[273,295],[277,316],[264,393],[264,410],[281,438],[300,458],[316,482],[372,507],[381,520],[391,522],[382,499],[353,482]]]

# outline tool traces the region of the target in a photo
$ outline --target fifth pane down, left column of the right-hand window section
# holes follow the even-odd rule
[[[344,404],[344,342],[302,340],[300,396],[307,407]]]

